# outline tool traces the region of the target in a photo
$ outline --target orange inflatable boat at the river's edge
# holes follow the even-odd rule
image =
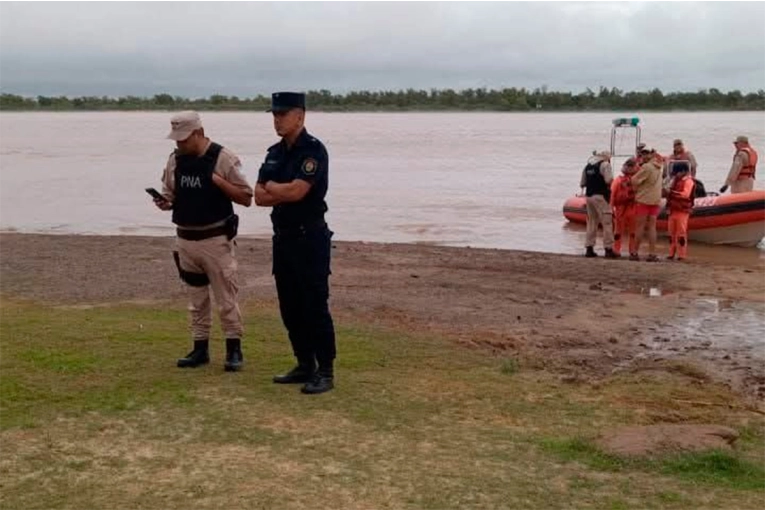
[[[572,223],[587,223],[585,197],[563,204],[563,216]],[[667,231],[667,210],[662,203],[659,232]],[[756,246],[765,237],[765,191],[697,198],[688,221],[688,237],[710,244]]]

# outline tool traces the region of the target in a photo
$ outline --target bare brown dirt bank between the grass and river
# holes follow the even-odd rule
[[[161,237],[0,235],[4,298],[54,304],[182,306]],[[270,240],[239,239],[244,303],[276,310]],[[427,331],[488,355],[597,380],[622,370],[686,370],[765,397],[762,343],[720,349],[703,331],[662,336],[695,303],[746,303],[765,320],[765,262],[629,262],[507,250],[337,242],[336,321]],[[661,296],[650,296],[650,289]],[[731,329],[736,327],[731,319]],[[661,349],[655,349],[661,344]],[[340,343],[342,352],[342,343]]]

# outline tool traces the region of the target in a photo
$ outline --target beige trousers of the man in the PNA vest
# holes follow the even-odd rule
[[[226,236],[216,236],[201,241],[176,239],[176,247],[184,271],[205,273],[210,285],[193,287],[186,285],[189,294],[191,336],[194,340],[210,338],[212,327],[212,303],[210,287],[218,305],[221,328],[226,338],[241,338],[244,333],[242,314],[237,303],[237,263],[234,241]]]

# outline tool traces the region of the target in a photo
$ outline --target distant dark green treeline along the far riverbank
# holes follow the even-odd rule
[[[743,94],[718,89],[697,92],[625,92],[617,88],[587,89],[579,94],[505,88],[358,91],[307,93],[308,107],[321,111],[582,111],[582,110],[765,110],[765,90]],[[0,95],[0,110],[265,110],[270,97],[250,98],[215,94],[200,99],[157,94],[153,97],[23,97]]]

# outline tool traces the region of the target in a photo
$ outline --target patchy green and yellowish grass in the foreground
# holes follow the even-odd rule
[[[763,422],[682,374],[562,385],[449,339],[341,321],[335,391],[270,382],[293,360],[275,307],[250,306],[245,370],[179,370],[182,305],[2,301],[2,508],[756,508]],[[217,328],[217,323],[216,323]],[[217,331],[217,329],[216,329]],[[581,437],[684,420],[733,453],[627,461]]]

